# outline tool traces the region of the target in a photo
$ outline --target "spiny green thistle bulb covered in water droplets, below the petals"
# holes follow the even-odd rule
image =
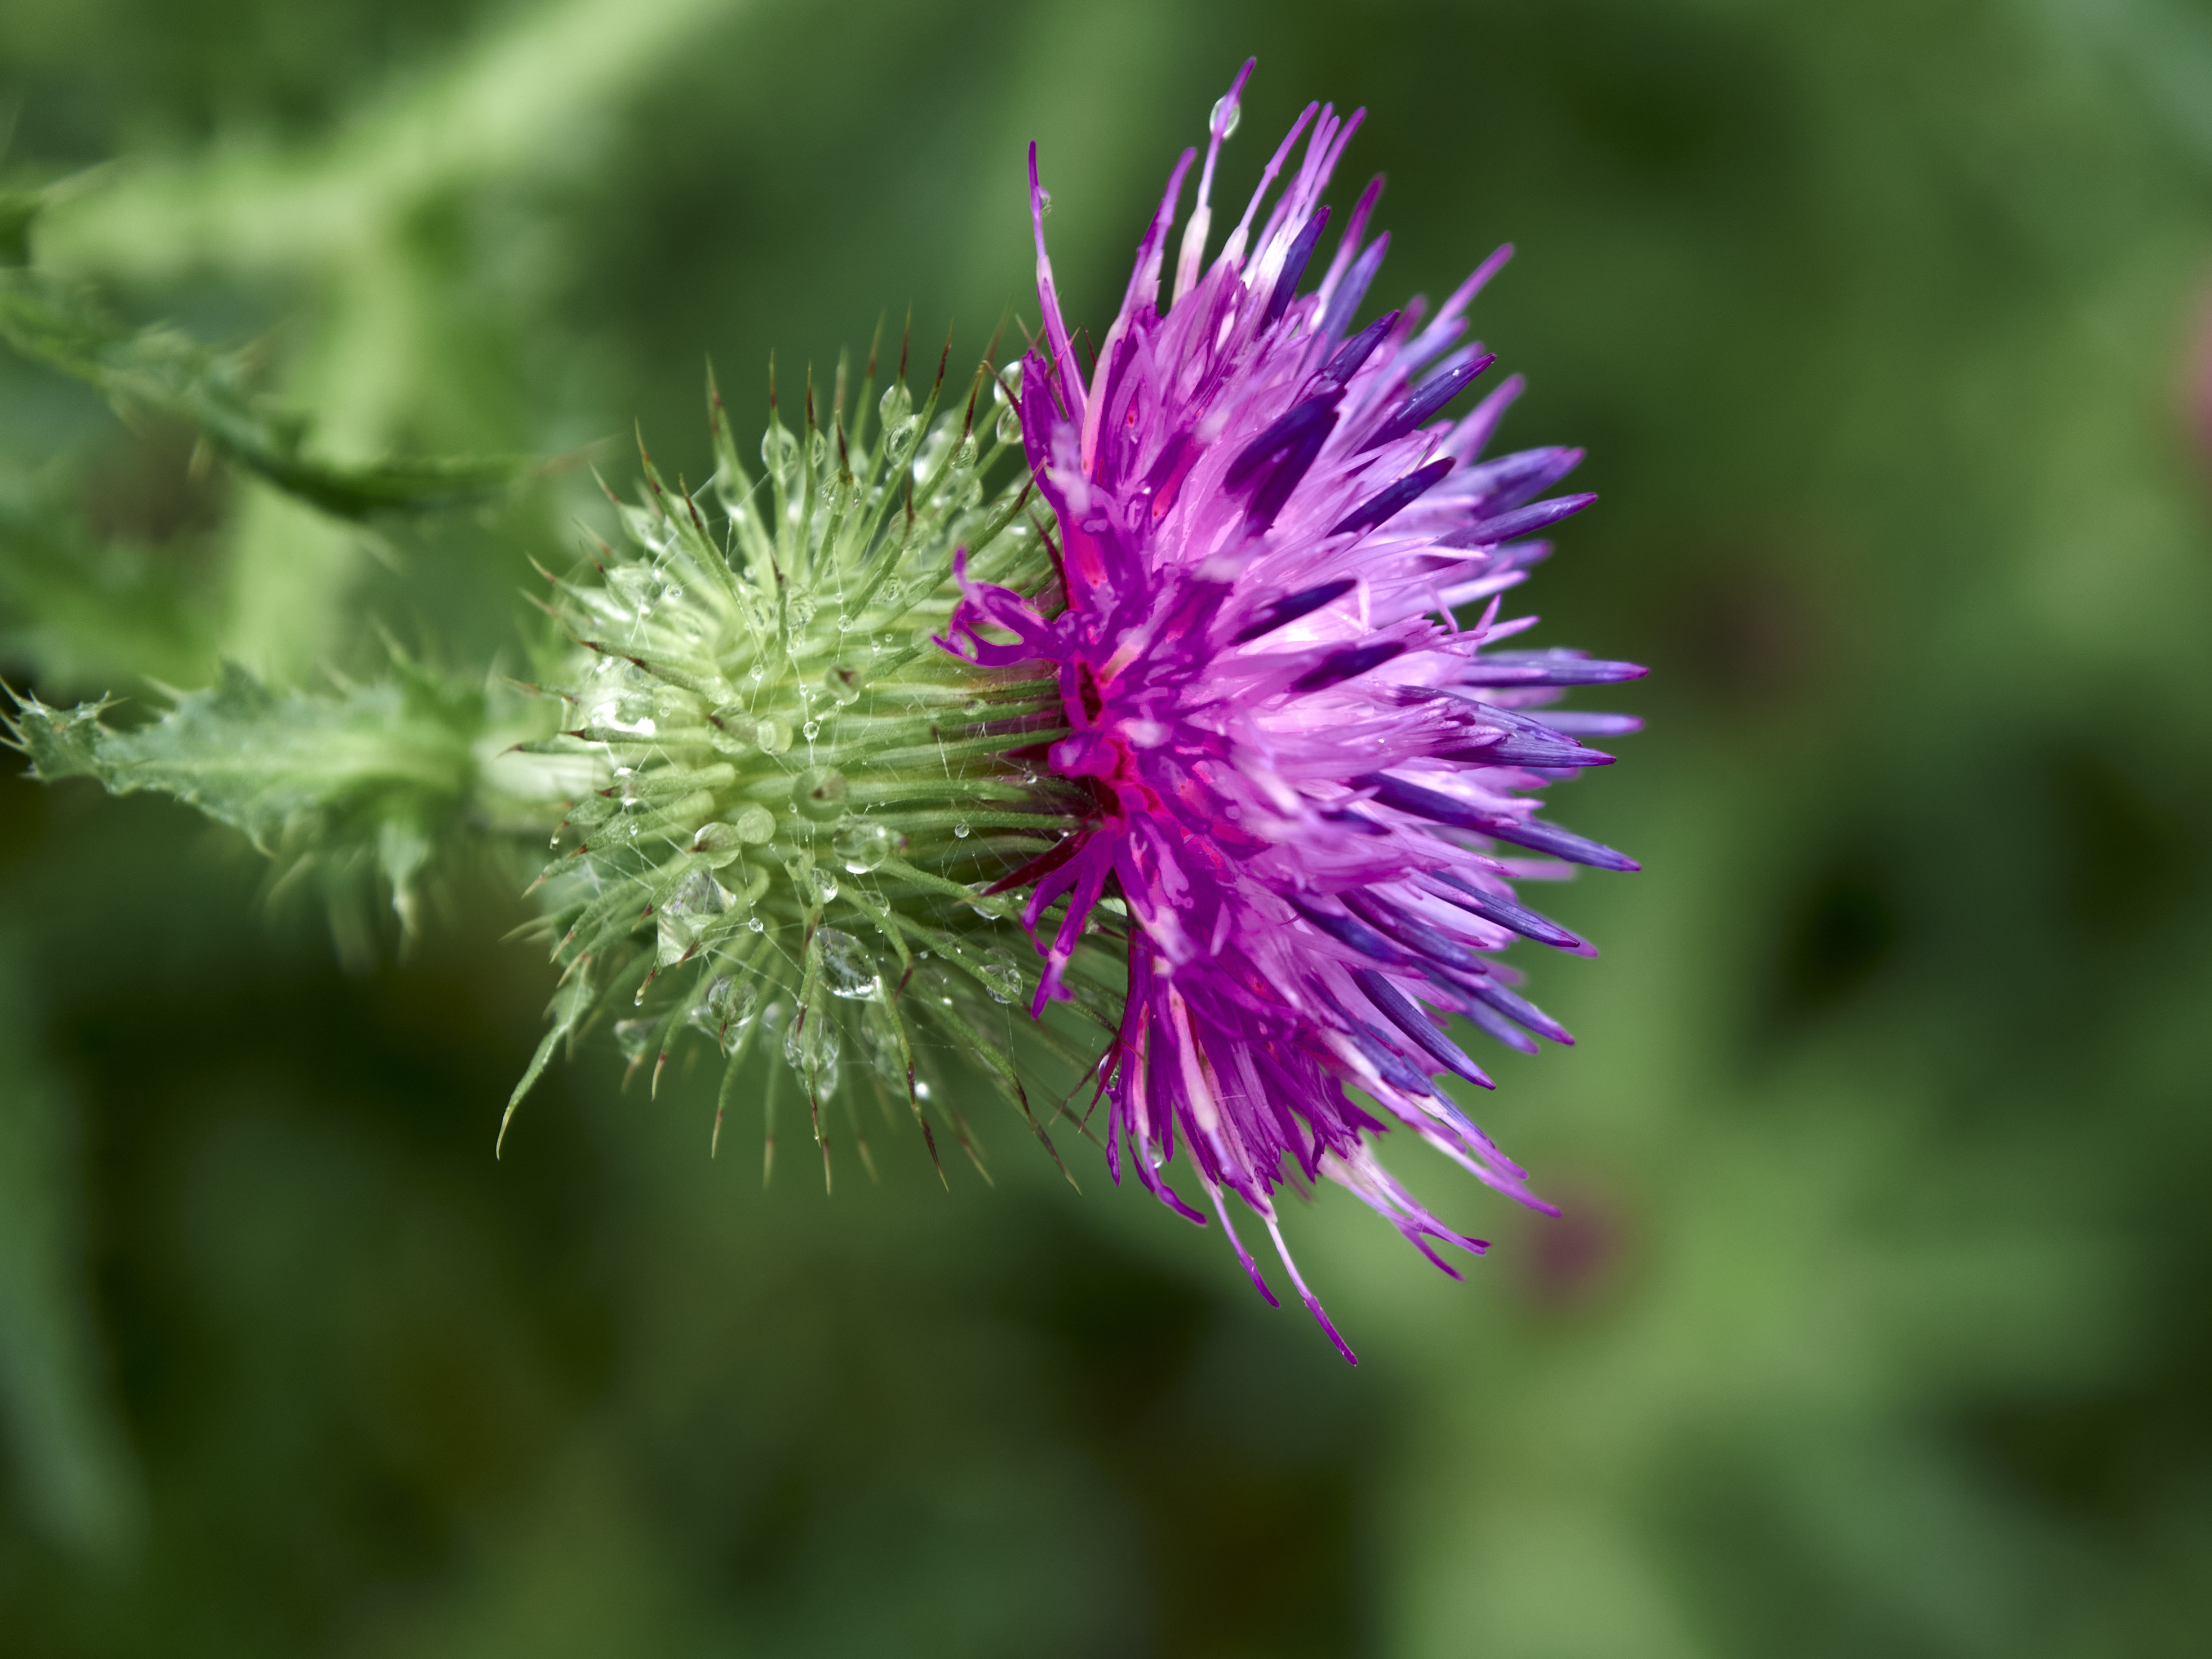
[[[845,365],[827,422],[810,380],[796,434],[770,378],[759,480],[710,380],[710,491],[670,489],[646,456],[639,504],[617,502],[630,551],[549,577],[571,641],[564,719],[518,765],[571,794],[533,889],[564,980],[509,1121],[555,1044],[604,1011],[633,1071],[653,1060],[655,1088],[686,1033],[719,1048],[721,1108],[765,1046],[765,1159],[790,1073],[827,1181],[838,1097],[863,1161],[863,1088],[905,1099],[931,1157],[931,1113],[973,1155],[931,1055],[964,1055],[1031,1113],[1013,1026],[1077,1068],[1097,1046],[1009,1018],[1040,969],[1013,900],[989,891],[1075,827],[1022,759],[1064,730],[1057,690],[931,644],[958,599],[953,546],[1013,588],[1053,580],[1026,473],[987,487],[1020,427],[1000,409],[978,434],[989,365],[964,409],[938,407],[942,363],[916,409],[905,349],[880,405],[874,378],[872,352],[849,425]],[[1113,1031],[1102,989],[1077,1011]]]

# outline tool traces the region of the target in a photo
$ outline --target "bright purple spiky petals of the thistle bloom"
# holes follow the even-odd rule
[[[1610,761],[1584,737],[1637,726],[1548,712],[1562,688],[1644,670],[1498,648],[1533,622],[1498,619],[1498,597],[1548,551],[1528,538],[1590,502],[1544,493],[1579,449],[1482,460],[1517,376],[1442,418],[1491,365],[1460,336],[1511,250],[1433,319],[1416,299],[1354,330],[1389,241],[1363,241],[1376,179],[1305,285],[1329,221],[1321,190],[1363,113],[1307,106],[1201,270],[1214,161],[1250,73],[1214,106],[1166,312],[1168,232],[1197,150],[1168,179],[1088,383],[1053,292],[1031,146],[1044,338],[1022,363],[1020,420],[1060,520],[1064,608],[1048,617],[962,577],[947,644],[1060,677],[1073,730],[1048,759],[1088,814],[1004,885],[1035,883],[1024,922],[1046,971],[1033,1011],[1066,995],[1093,909],[1126,905],[1128,1002],[1099,1062],[1108,1168],[1119,1179],[1126,1146],[1137,1179],[1203,1223],[1161,1175],[1181,1146],[1261,1294],[1274,1301],[1223,1190],[1265,1223],[1349,1360],[1283,1248],[1274,1194],[1338,1181],[1453,1272],[1433,1243],[1484,1243],[1376,1159],[1374,1139],[1405,1126],[1548,1210],[1436,1086],[1444,1073],[1491,1086],[1444,1015],[1515,1048],[1535,1048],[1528,1033],[1571,1042],[1498,953],[1515,938],[1590,949],[1524,909],[1513,878],[1637,865],[1535,818],[1528,792]]]

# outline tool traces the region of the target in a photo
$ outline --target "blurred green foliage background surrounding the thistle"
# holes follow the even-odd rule
[[[1006,1115],[995,1186],[909,1133],[763,1192],[602,1044],[493,1164],[504,885],[341,971],[234,834],[9,757],[0,1648],[2203,1652],[2212,9],[11,0],[0,117],[18,184],[111,164],[40,261],[330,451],[699,478],[708,354],[1033,303],[1031,137],[1097,330],[1248,51],[1232,199],[1332,97],[1378,299],[1520,243],[1506,438],[1604,495],[1540,641],[1655,668],[1559,801],[1646,860],[1548,905],[1582,1046],[1486,1102],[1566,1217],[1394,1146],[1498,1241],[1451,1285],[1294,1214],[1347,1369]],[[0,358],[49,701],[480,666],[580,511],[372,535]]]

